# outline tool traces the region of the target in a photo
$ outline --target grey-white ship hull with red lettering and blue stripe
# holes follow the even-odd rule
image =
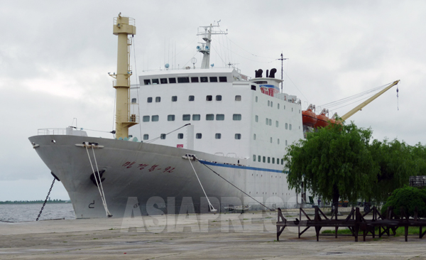
[[[99,188],[90,179],[97,170],[104,170],[102,190],[114,217],[130,217],[125,216],[126,207],[135,200],[129,197],[137,198],[138,204],[132,205],[140,207],[142,214],[178,213],[181,206],[187,211],[207,212],[207,200],[197,176],[216,208],[259,205],[249,196],[270,206],[285,207],[282,204],[288,197],[295,196],[285,188],[285,173],[245,166],[247,159],[87,136],[43,135],[29,140],[64,185],[77,218],[106,217]],[[80,145],[84,142],[103,147],[85,148]],[[190,162],[182,158],[185,154],[194,154],[200,161]]]

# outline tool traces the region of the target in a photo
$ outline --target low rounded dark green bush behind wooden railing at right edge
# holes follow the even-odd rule
[[[393,191],[391,197],[383,205],[381,213],[384,215],[388,207],[393,207],[393,212],[400,216],[400,208],[403,207],[405,214],[414,217],[417,207],[418,217],[426,217],[426,190],[406,186]]]

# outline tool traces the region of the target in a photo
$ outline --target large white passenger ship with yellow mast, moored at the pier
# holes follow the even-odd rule
[[[200,68],[165,65],[131,86],[129,36],[136,27],[132,18],[114,20],[116,139],[72,127],[29,138],[64,185],[77,218],[123,217],[129,197],[137,197],[142,214],[301,201],[283,173],[286,146],[303,138],[300,100],[280,92],[273,68],[251,78],[210,67],[214,28],[202,27]]]

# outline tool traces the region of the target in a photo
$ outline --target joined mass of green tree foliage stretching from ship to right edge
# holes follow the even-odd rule
[[[404,141],[371,141],[371,129],[332,125],[307,133],[288,146],[284,157],[288,184],[297,193],[302,183],[312,195],[341,200],[386,200],[408,185],[410,176],[426,175],[426,146]]]

